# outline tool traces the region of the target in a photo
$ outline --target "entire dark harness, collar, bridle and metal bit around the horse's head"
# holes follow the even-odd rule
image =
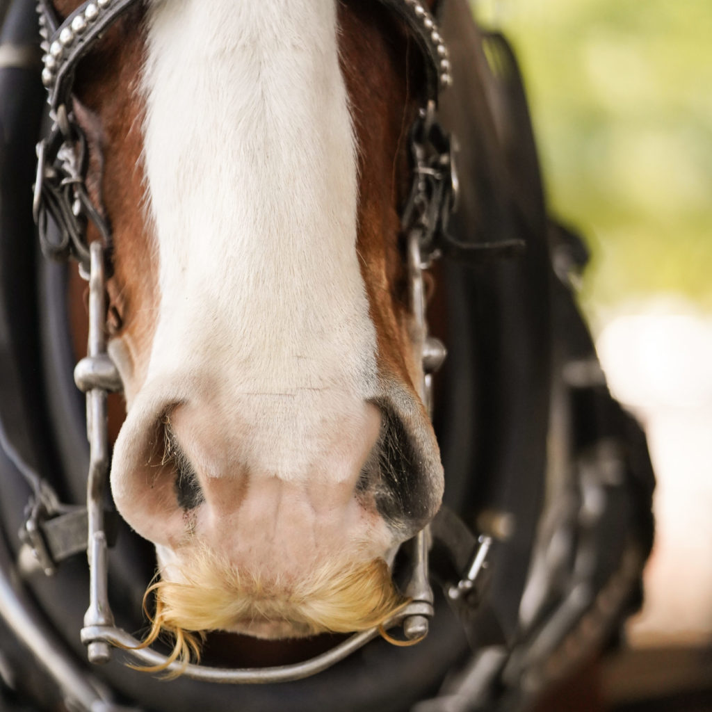
[[[133,694],[135,673],[114,664],[105,668],[103,684],[115,691],[114,696],[137,701],[146,708],[178,710],[194,706],[197,700],[219,708],[242,700],[248,708],[273,709],[283,708],[288,699],[289,708],[295,710],[318,705],[396,710],[431,698],[429,703],[420,703],[426,704],[423,709],[439,710],[449,705],[448,709],[468,710],[491,704],[496,686],[519,700],[557,674],[556,669],[546,666],[551,668],[551,660],[575,634],[584,615],[593,615],[597,607],[601,608],[601,597],[607,603],[597,613],[597,628],[605,637],[636,590],[651,531],[652,480],[644,439],[607,394],[590,337],[575,309],[568,280],[570,271],[580,263],[581,244],[569,231],[547,222],[513,55],[501,36],[483,39],[475,35],[470,38],[475,46],[487,43],[488,50],[498,56],[500,75],[486,73],[484,61],[464,73],[463,67],[471,57],[459,57],[459,53],[466,54],[462,47],[471,45],[459,42],[449,56],[443,37],[459,37],[460,26],[476,32],[471,23],[462,24],[466,4],[441,4],[440,29],[416,0],[380,1],[404,23],[426,59],[422,110],[410,132],[413,182],[402,223],[407,236],[411,301],[424,334],[422,397],[429,409],[434,372],[445,352],[438,339],[426,335],[422,270],[439,254],[456,258],[441,266],[441,281],[449,292],[451,333],[457,338],[449,340],[449,362],[439,375],[443,397],[433,414],[446,469],[447,506],[429,530],[408,543],[404,592],[412,602],[388,624],[402,625],[409,639],[424,637],[429,628],[431,631],[424,642],[408,651],[379,643],[374,640],[377,630],[370,630],[322,656],[292,666],[239,670],[188,666],[184,678],[172,682],[170,693],[167,686],[146,679],[142,680],[141,694]],[[1,470],[4,483],[11,484],[9,496],[2,498],[0,514],[7,539],[22,523],[17,511],[9,513],[14,503],[27,501],[30,491],[31,506],[22,523],[25,548],[3,545],[0,552],[0,617],[21,642],[19,647],[41,659],[49,679],[61,689],[61,696],[83,709],[115,707],[109,702],[111,693],[102,684],[97,686],[94,675],[75,657],[80,646],[68,631],[76,630],[76,612],[83,597],[68,605],[72,614],[66,616],[66,625],[58,622],[61,607],[51,598],[57,590],[66,595],[66,591],[75,592],[81,582],[86,582],[87,574],[73,554],[88,545],[90,604],[81,636],[88,647],[88,659],[94,663],[108,661],[111,644],[135,646],[137,641],[124,630],[131,627],[132,616],[121,607],[117,617],[127,622],[115,626],[110,607],[114,591],[108,586],[108,575],[112,567],[113,581],[117,580],[117,570],[123,567],[125,573],[127,562],[138,558],[135,549],[142,544],[135,537],[132,540],[124,526],[115,553],[108,555],[112,536],[104,494],[108,468],[105,399],[108,391],[120,388],[103,342],[103,272],[110,230],[88,199],[84,184],[86,143],[70,111],[70,97],[78,61],[113,22],[136,5],[137,0],[90,1],[60,24],[48,0],[38,3],[45,52],[41,78],[48,88],[51,126],[38,147],[31,212],[38,223],[43,251],[54,257],[73,256],[90,280],[88,356],[74,372],[78,386],[87,394],[88,456],[81,443],[77,448],[66,445],[61,436],[63,428],[72,432],[73,441],[80,432],[80,426],[67,423],[41,428],[50,434],[47,454],[33,453],[27,438],[39,429],[25,426],[23,430],[19,424],[26,424],[28,417],[21,411],[26,407],[23,404],[41,407],[43,398],[26,387],[31,382],[27,374],[19,373],[2,383],[3,394],[8,397],[0,410]],[[6,28],[16,34],[13,41],[22,46],[33,44],[33,22],[27,6],[25,1],[16,0],[11,10],[14,16],[6,22]],[[3,42],[2,46],[7,46],[5,37]],[[37,80],[39,66],[18,65],[12,69],[20,74],[23,92],[17,95],[29,106],[17,110],[19,115],[38,116],[42,93]],[[466,93],[444,93],[441,100],[441,90],[459,75],[466,76],[470,83]],[[12,95],[6,93],[4,85],[0,85],[0,91]],[[478,112],[483,114],[483,105],[473,109],[463,96],[484,100],[483,105],[504,106],[500,123],[486,113],[477,122],[480,130],[473,131],[469,122]],[[460,162],[461,179],[475,189],[461,196],[452,216],[457,177],[451,140],[439,122],[439,113],[457,135],[480,142],[475,150],[463,151],[459,157],[464,159]],[[20,125],[18,117],[3,117],[4,133],[10,138]],[[498,129],[501,134],[509,129],[510,137],[526,136],[512,142],[498,136]],[[28,166],[27,134],[34,137],[37,130],[25,134],[16,142],[17,155],[2,156],[0,265],[21,263],[8,261],[6,254],[17,251],[17,245],[25,240],[21,251],[31,272],[33,254],[26,244],[31,232],[29,193],[16,199],[16,204],[23,206],[18,216],[9,216],[5,207],[11,204],[6,167]],[[495,150],[496,145],[501,150]],[[25,179],[23,186],[30,183],[31,179]],[[490,201],[491,194],[494,198]],[[102,241],[91,246],[85,241],[88,220],[95,222],[102,236]],[[472,241],[473,232],[490,237],[485,242]],[[518,260],[487,259],[512,256],[523,248],[525,256]],[[551,271],[551,251],[560,258],[557,263],[567,265],[558,278]],[[470,267],[465,268],[463,263]],[[19,290],[25,297],[23,304],[29,305],[26,320],[8,314],[8,301],[5,297],[1,301],[0,355],[5,375],[22,371],[21,355],[36,354],[41,350],[39,344],[50,337],[66,342],[66,330],[62,330],[63,272],[47,265],[39,270],[43,326],[36,343],[23,343],[16,337],[21,321],[37,320],[36,298],[27,294],[27,288]],[[13,283],[5,273],[1,277],[6,295]],[[44,389],[49,392],[50,412],[58,414],[53,421],[70,420],[69,414],[74,414],[73,422],[81,424],[82,409],[67,379],[70,349],[66,343],[64,346],[59,342],[58,355],[53,353],[45,359]],[[562,434],[567,428],[568,432]],[[547,451],[548,432],[559,434],[562,449]],[[88,467],[71,468],[79,476],[89,472],[85,508],[62,505],[56,491],[61,481],[48,474],[56,463],[73,460],[76,464],[77,459],[88,459]],[[610,475],[612,471],[616,476]],[[65,484],[73,491],[63,494],[70,494],[70,501],[80,501],[76,474],[74,478],[73,485]],[[547,478],[554,481],[553,494],[550,485],[550,502],[542,515]],[[10,496],[11,487],[16,492]],[[587,511],[592,501],[600,502],[601,498],[606,502],[601,511]],[[122,524],[117,523],[117,527]],[[613,535],[619,535],[620,540],[612,546],[609,539]],[[552,550],[561,538],[567,546],[556,557]],[[533,550],[534,540],[537,544]],[[13,585],[10,573],[25,569],[14,561],[18,555],[21,562],[23,557],[26,560],[29,550],[43,570],[55,576],[37,581],[26,574],[25,586]],[[607,550],[608,557],[602,557]],[[441,597],[434,596],[431,579],[441,585]],[[113,597],[124,593],[129,601],[126,608],[133,605],[136,610],[140,588],[117,591]],[[54,629],[40,619],[26,589],[33,591]],[[435,624],[431,626],[433,616]],[[591,640],[579,643],[578,648],[584,651],[593,644]],[[70,653],[70,646],[75,648],[74,653]],[[360,653],[355,652],[363,646]],[[21,659],[22,654],[16,656]],[[145,664],[164,660],[151,650],[134,651],[132,656]],[[346,656],[351,657],[343,660]],[[330,667],[337,661],[342,663]],[[412,671],[422,670],[424,665],[432,668],[431,672],[416,679]],[[561,673],[566,666],[559,665]],[[18,667],[23,668],[23,664],[19,662]],[[455,674],[443,687],[447,671]],[[317,672],[321,674],[313,680],[288,682]],[[209,684],[277,681],[285,684],[246,687],[239,695]]]

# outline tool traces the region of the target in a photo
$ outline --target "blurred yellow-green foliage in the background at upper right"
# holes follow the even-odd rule
[[[550,204],[592,248],[586,308],[659,291],[712,308],[712,2],[497,8],[525,75]]]

